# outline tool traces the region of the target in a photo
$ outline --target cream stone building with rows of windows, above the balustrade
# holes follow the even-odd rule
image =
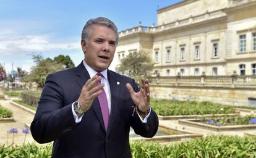
[[[157,27],[119,32],[113,65],[147,51],[160,76],[255,75],[255,8],[255,0],[186,0],[159,9]]]

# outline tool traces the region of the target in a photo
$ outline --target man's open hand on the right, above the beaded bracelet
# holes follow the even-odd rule
[[[130,97],[132,98],[132,101],[134,101],[134,104],[138,106],[142,112],[147,112],[150,104],[150,89],[148,79],[142,79],[142,86],[138,93],[134,91],[129,83],[126,84],[126,88],[129,90]]]

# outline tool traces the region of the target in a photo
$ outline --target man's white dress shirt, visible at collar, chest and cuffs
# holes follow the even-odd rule
[[[96,72],[94,69],[92,69],[92,67],[90,67],[89,65],[86,64],[85,60],[83,60],[83,65],[85,66],[85,69],[87,69],[89,75],[90,75],[90,78],[94,77],[98,72]],[[109,114],[111,114],[111,93],[110,93],[110,86],[109,86],[109,81],[108,81],[108,69],[104,70],[103,72],[100,72],[102,75],[103,75],[103,78],[101,78],[101,83],[104,83],[104,91],[106,93],[106,97],[107,97],[107,100],[108,100],[108,109],[109,109]],[[150,107],[150,112],[151,112],[151,107]],[[142,119],[142,117],[140,117],[139,115],[139,118],[140,120],[142,120],[143,123],[147,123],[147,119],[150,115],[150,112],[148,113],[148,115]],[[75,110],[74,110],[74,107],[72,106],[72,113],[74,115],[74,118],[75,118],[75,123],[79,123],[81,122],[82,120],[82,117],[83,117],[83,114],[80,115],[79,117],[77,116],[77,113],[75,113]]]

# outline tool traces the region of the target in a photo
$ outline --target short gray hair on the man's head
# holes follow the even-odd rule
[[[111,20],[105,17],[97,17],[96,19],[88,20],[88,22],[83,27],[81,38],[82,40],[85,40],[85,43],[87,46],[88,46],[88,39],[92,35],[92,28],[95,25],[103,25],[108,28],[111,28],[114,31],[114,33],[116,33],[116,43],[118,43],[118,32],[117,32],[116,25],[114,25],[114,22],[112,22]]]

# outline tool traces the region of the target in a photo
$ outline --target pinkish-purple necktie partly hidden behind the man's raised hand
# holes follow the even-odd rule
[[[103,78],[103,75],[101,73],[97,73],[97,76],[101,76]],[[97,85],[100,85],[100,81],[97,83]],[[104,88],[101,88],[102,93],[98,96],[99,102],[100,102],[100,109],[101,114],[104,120],[105,130],[108,130],[108,121],[109,121],[109,110],[108,110],[108,99],[106,98],[106,93]]]

